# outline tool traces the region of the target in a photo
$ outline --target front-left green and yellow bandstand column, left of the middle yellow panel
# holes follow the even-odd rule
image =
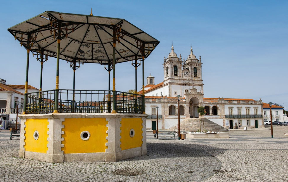
[[[53,113],[58,113],[60,41],[61,41],[61,22],[58,22],[56,87],[55,87],[55,105]]]

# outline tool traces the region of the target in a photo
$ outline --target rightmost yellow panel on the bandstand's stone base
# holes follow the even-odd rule
[[[120,147],[122,150],[142,146],[142,118],[122,118],[120,133]],[[134,129],[134,136],[130,136],[130,130]]]

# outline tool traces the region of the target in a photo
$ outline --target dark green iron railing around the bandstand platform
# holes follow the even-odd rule
[[[54,112],[55,90],[27,94],[26,113]],[[112,91],[59,89],[59,113],[111,113]],[[116,91],[117,113],[142,113],[143,96]]]

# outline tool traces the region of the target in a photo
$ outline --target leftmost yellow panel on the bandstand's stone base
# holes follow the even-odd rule
[[[47,119],[26,119],[26,132],[24,133],[24,148],[26,151],[39,153],[47,152],[48,124],[49,122]],[[33,137],[35,131],[38,131],[39,133],[39,138],[37,140]]]

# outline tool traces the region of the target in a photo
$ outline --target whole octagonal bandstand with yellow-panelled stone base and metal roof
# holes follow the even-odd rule
[[[144,59],[159,41],[124,19],[93,16],[92,12],[46,11],[8,31],[27,49],[24,111],[19,116],[20,157],[94,162],[147,153]],[[30,51],[41,63],[40,91],[33,93],[27,93]],[[56,86],[42,91],[43,63],[49,57],[57,58]],[[59,89],[60,59],[73,69],[73,89]],[[135,67],[135,88],[137,67],[142,65],[142,95],[116,91],[116,63],[122,62]],[[104,66],[108,90],[75,90],[75,70],[86,63]]]

